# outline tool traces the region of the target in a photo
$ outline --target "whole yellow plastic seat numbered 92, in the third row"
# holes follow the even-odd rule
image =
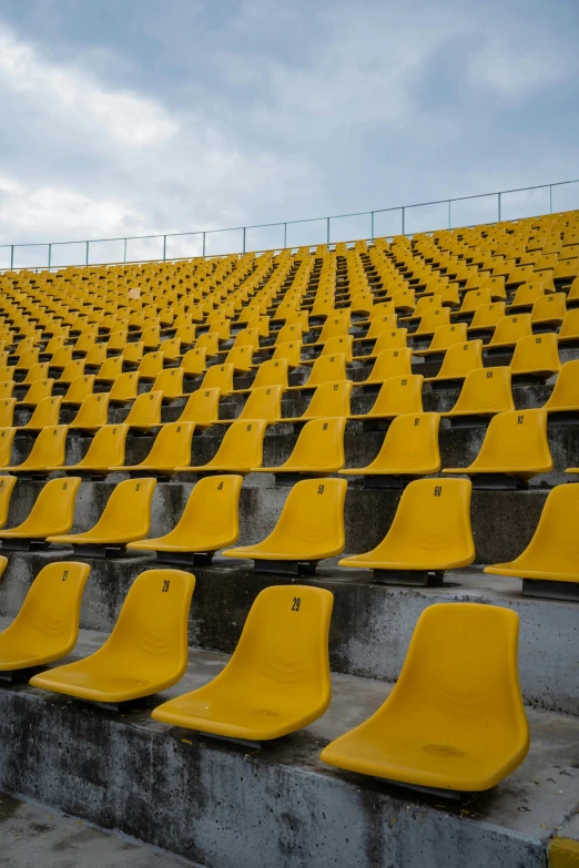
[[[517,488],[537,473],[551,470],[547,411],[540,409],[497,413],[490,420],[480,452],[473,463],[466,468],[448,468],[443,473],[481,474],[477,480],[479,487]]]

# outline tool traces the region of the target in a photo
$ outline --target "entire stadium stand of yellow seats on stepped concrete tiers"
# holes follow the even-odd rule
[[[0,356],[0,788],[210,868],[547,864],[579,212],[4,272]]]

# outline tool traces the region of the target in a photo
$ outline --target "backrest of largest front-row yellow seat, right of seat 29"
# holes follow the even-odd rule
[[[529,735],[517,670],[518,634],[517,613],[502,606],[428,606],[387,701],[388,714],[413,719],[419,709],[428,709],[433,744],[447,744],[451,732],[468,750],[484,734],[496,750],[520,745],[526,753]]]

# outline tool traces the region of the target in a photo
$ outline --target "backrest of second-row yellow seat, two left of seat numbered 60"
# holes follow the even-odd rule
[[[240,537],[240,492],[243,477],[236,473],[204,477],[190,494],[175,531],[203,540],[207,551],[233,545]]]

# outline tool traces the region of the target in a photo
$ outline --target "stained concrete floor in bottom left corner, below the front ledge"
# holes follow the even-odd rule
[[[191,862],[82,820],[0,794],[0,866],[182,868]]]

